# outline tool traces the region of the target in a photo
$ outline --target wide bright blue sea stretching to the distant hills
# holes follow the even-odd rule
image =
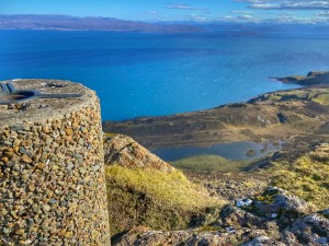
[[[269,77],[329,70],[329,39],[0,31],[0,80],[46,78],[98,92],[104,120],[160,116],[296,87]]]

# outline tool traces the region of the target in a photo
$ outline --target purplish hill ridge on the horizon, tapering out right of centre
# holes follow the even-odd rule
[[[0,30],[103,31],[143,33],[197,33],[190,25],[166,25],[113,17],[77,17],[69,15],[18,14],[0,15]]]

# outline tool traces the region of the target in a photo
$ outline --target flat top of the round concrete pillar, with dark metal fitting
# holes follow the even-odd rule
[[[24,122],[45,122],[47,119],[58,118],[64,115],[76,112],[82,107],[89,106],[94,103],[98,97],[95,92],[83,86],[79,83],[73,83],[70,81],[61,80],[7,80],[0,81],[1,86],[8,85],[13,86],[15,92],[24,91],[26,94],[35,93],[35,97],[12,104],[0,104],[0,128],[5,126],[22,125]],[[7,87],[4,86],[4,90]],[[10,90],[4,93],[8,96],[3,96],[3,87],[0,93],[2,93],[2,98],[5,102],[11,95]],[[69,97],[56,98],[43,98],[39,96],[44,94],[72,94]],[[30,94],[27,96],[30,96]],[[19,95],[20,96],[20,95]],[[47,96],[47,95],[46,95]],[[76,97],[75,97],[76,96]],[[12,96],[14,98],[14,96]],[[0,96],[1,101],[1,96]],[[2,101],[2,102],[3,102]],[[9,101],[11,102],[11,101]]]

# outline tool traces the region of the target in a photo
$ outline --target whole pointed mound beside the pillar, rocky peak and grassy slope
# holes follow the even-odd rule
[[[227,203],[128,137],[105,137],[104,152],[112,239],[139,225],[186,229],[207,209]]]

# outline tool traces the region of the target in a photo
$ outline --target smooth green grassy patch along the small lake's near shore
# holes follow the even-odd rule
[[[239,171],[248,162],[230,161],[218,155],[195,155],[170,164],[177,168],[192,172],[232,172]]]

